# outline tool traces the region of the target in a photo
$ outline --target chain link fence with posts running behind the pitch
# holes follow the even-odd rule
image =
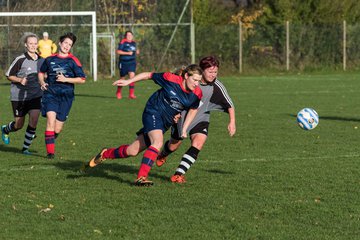
[[[78,36],[74,54],[91,75],[91,20],[73,17],[72,24],[44,24],[35,18],[18,19],[7,24],[0,19],[0,66],[3,72],[11,61],[24,51],[22,36],[34,32],[50,34],[55,42],[61,34],[73,31]],[[58,20],[63,21],[63,19]],[[25,22],[25,23],[24,23]],[[53,20],[54,22],[54,20]],[[173,70],[207,55],[216,55],[221,61],[222,74],[252,74],[286,71],[358,70],[360,61],[360,24],[254,24],[246,29],[240,24],[221,26],[195,25],[195,52],[191,52],[191,25],[179,25],[169,44],[175,25],[134,25],[135,40],[140,48],[138,72]],[[113,25],[110,35],[115,37],[115,51],[124,29]],[[103,34],[109,27],[99,25]],[[240,37],[241,33],[241,37]],[[118,77],[117,55],[109,39],[98,38],[98,71],[101,77],[114,77],[110,68],[115,58],[115,77]],[[162,60],[161,66],[160,62]]]

